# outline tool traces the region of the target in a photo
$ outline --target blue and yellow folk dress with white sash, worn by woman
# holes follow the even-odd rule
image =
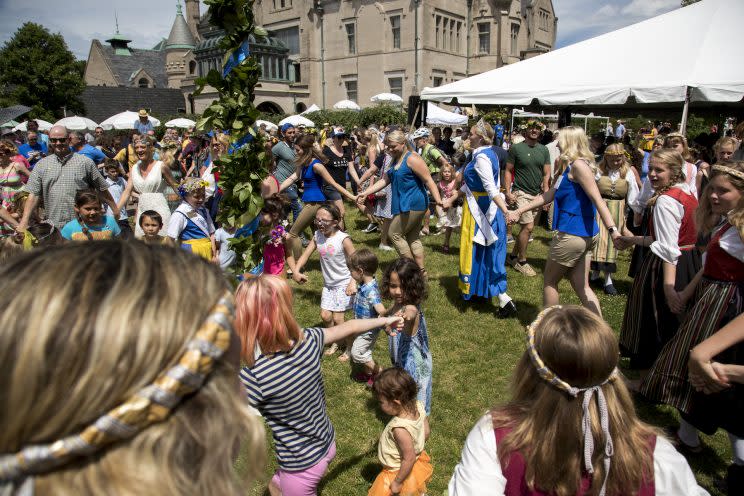
[[[499,191],[499,159],[490,146],[475,150],[463,171],[465,203],[460,232],[462,297],[506,293],[506,220],[492,198]]]

